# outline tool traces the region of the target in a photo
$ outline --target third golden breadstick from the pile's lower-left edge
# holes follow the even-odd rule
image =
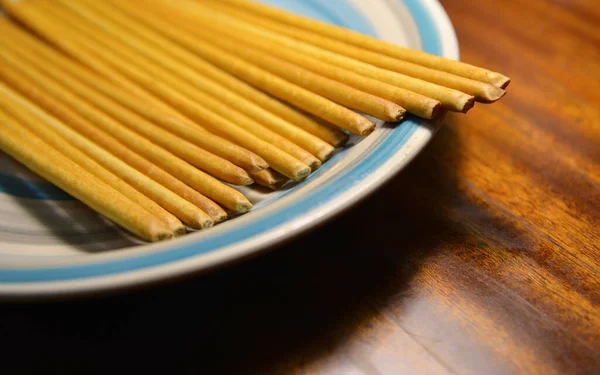
[[[7,66],[3,65],[2,70],[7,70]],[[40,121],[40,126],[48,126],[59,132],[73,146],[173,213],[186,225],[195,229],[204,229],[213,225],[213,221],[204,211],[131,168],[4,84],[0,84],[0,98],[0,105],[5,110],[10,111],[11,107],[20,106],[28,111]]]

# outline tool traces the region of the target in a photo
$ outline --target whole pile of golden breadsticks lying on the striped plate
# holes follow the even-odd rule
[[[0,149],[156,241],[509,79],[247,0],[0,0]],[[364,114],[364,115],[363,115]]]

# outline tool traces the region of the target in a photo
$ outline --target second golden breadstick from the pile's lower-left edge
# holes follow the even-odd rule
[[[2,105],[0,105],[2,106]],[[4,108],[4,106],[2,106]],[[102,165],[94,161],[85,153],[71,145],[57,132],[46,126],[40,126],[40,121],[32,114],[25,111],[17,105],[5,108],[6,113],[17,120],[19,124],[26,127],[30,132],[33,132],[42,141],[53,147],[85,169],[88,173],[94,175],[108,186],[123,194],[126,198],[136,203],[158,219],[160,219],[171,232],[175,235],[185,234],[185,226],[174,215],[162,208],[156,202],[140,193],[134,187],[123,181],[121,178],[104,168]],[[0,116],[1,118],[1,116]]]

